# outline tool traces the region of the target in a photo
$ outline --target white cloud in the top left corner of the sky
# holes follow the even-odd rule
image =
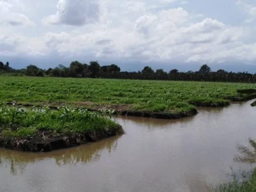
[[[26,15],[14,11],[22,9],[23,5],[18,0],[0,0],[0,25],[33,26],[35,25]]]

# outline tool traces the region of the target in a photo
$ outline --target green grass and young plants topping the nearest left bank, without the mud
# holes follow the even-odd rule
[[[25,111],[20,106],[0,106],[0,133],[4,137],[29,137],[39,130],[53,133],[91,133],[119,127],[110,118],[82,108],[61,107],[57,111],[49,107]]]

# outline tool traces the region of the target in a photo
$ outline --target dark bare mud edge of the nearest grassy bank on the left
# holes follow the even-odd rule
[[[124,131],[121,126],[89,133],[61,134],[49,130],[38,130],[30,137],[5,137],[0,133],[0,147],[31,152],[49,152],[52,150],[69,148],[96,142],[108,137],[122,135]]]

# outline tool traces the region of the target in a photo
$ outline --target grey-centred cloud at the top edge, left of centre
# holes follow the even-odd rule
[[[59,0],[57,13],[43,19],[46,24],[82,26],[99,18],[98,0]]]

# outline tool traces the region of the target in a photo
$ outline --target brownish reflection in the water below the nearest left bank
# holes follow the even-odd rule
[[[49,153],[27,153],[0,148],[0,168],[9,165],[10,173],[16,175],[17,173],[23,173],[28,164],[34,164],[45,159],[54,159],[58,166],[98,161],[102,151],[105,150],[111,153],[116,150],[119,137]]]

